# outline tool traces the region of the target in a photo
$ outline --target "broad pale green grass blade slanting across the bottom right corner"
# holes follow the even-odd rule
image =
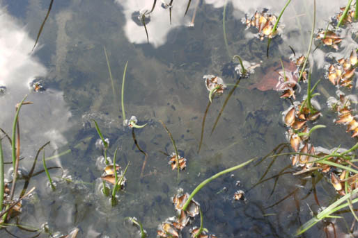
[[[313,217],[312,219],[310,219],[309,221],[304,223],[297,230],[295,236],[301,235],[302,233],[306,232],[306,230],[309,230],[309,228],[311,228],[312,226],[316,225],[316,223],[318,223],[322,219],[325,219],[325,217],[327,217],[330,214],[332,214],[333,212],[336,212],[337,210],[340,210],[341,208],[347,206],[348,203],[345,203],[343,205],[341,205],[341,203],[344,203],[345,201],[347,201],[351,196],[354,196],[355,194],[357,194],[357,192],[358,192],[358,189],[355,189],[352,192],[350,192],[349,194],[346,194],[345,196],[339,198],[337,201],[335,201],[334,203],[332,203],[331,205],[326,207],[325,210],[322,210],[322,212],[317,214],[317,216]],[[352,201],[352,203],[356,203],[357,201],[358,201],[358,198],[355,198]]]

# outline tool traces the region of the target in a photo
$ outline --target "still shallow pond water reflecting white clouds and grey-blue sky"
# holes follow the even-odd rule
[[[20,112],[24,158],[20,170],[25,176],[16,194],[20,194],[40,146],[51,141],[45,148],[47,158],[62,154],[47,160],[48,167],[56,167],[50,170],[56,190],[49,187],[45,173],[33,176],[29,188],[36,190],[24,200],[21,214],[11,221],[32,229],[47,224],[49,231],[39,237],[61,237],[74,228],[79,228],[77,237],[140,237],[138,229],[125,220],[135,216],[148,236],[156,237],[157,226],[176,214],[171,197],[178,189],[190,193],[215,173],[250,158],[263,158],[279,144],[287,143],[281,113],[290,107],[290,101],[280,99],[274,90],[263,92],[252,85],[280,67],[280,58],[288,61],[290,47],[297,54],[306,53],[313,1],[290,3],[280,22],[283,33],[272,40],[268,59],[267,40],[260,41],[255,30],[245,29],[242,24],[245,14],[252,15],[263,8],[279,15],[285,3],[192,1],[185,15],[187,1],[173,1],[170,24],[169,9],[162,8],[158,1],[146,23],[147,44],[146,31],[137,17],[142,9],[151,9],[153,1],[54,1],[38,45],[31,53],[49,1],[0,1],[0,87],[6,87],[0,95],[0,127],[10,134],[16,103],[25,94],[33,102]],[[316,29],[325,28],[344,4],[345,1],[317,1]],[[323,117],[318,123],[327,125],[313,133],[311,143],[315,146],[350,148],[357,143],[343,126],[334,125],[336,114],[327,108],[326,101],[335,96],[336,87],[325,78],[329,57],[348,57],[352,49],[357,49],[357,40],[352,36],[357,27],[352,24],[343,28],[345,38],[338,51],[318,46],[310,59],[314,83],[321,79],[317,101]],[[260,67],[249,78],[240,80],[212,133],[226,96],[238,80],[234,70],[238,62],[232,60],[233,55]],[[123,127],[120,87],[127,61],[125,112],[127,117],[136,115],[139,124],[148,124],[134,129],[139,146],[148,154],[143,171],[146,156],[135,146],[132,129]],[[203,76],[208,74],[231,85],[208,108],[199,153],[201,126],[209,102]],[[29,89],[33,80],[40,80],[46,90]],[[346,90],[347,94],[357,93],[356,81],[354,78],[354,87]],[[302,100],[305,91],[303,85],[297,100]],[[100,190],[102,151],[95,146],[99,136],[93,119],[104,137],[109,138],[109,157],[118,148],[120,167],[130,162],[125,189],[118,192],[118,205],[114,207]],[[169,128],[178,152],[187,159],[187,169],[180,172],[179,180],[168,164],[169,156],[164,155],[173,153],[173,146],[159,120]],[[2,144],[6,161],[10,161],[7,139]],[[43,169],[41,158],[42,155],[36,171]],[[299,226],[320,209],[314,194],[322,207],[336,198],[329,180],[317,175],[293,176],[296,169],[290,167],[288,157],[281,156],[272,165],[271,162],[272,158],[267,158],[256,166],[252,163],[204,187],[195,200],[201,204],[205,228],[217,237],[294,237]],[[264,178],[270,178],[283,171],[290,173],[257,185],[264,174]],[[8,180],[10,173],[6,172]],[[233,200],[237,190],[245,192],[246,201]],[[332,223],[343,237],[348,232],[345,224],[352,223],[352,214],[347,210],[340,215],[345,219]],[[190,227],[199,224],[197,218]],[[318,223],[302,237],[325,237],[324,227],[325,223]],[[183,230],[182,237],[190,237],[188,230]],[[0,236],[11,237],[8,232],[17,237],[37,234],[6,228],[0,230]]]

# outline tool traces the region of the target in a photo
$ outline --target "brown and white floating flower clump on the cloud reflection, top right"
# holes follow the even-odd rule
[[[277,17],[267,12],[267,9],[264,9],[262,12],[256,11],[251,17],[246,15],[246,17],[242,19],[242,23],[246,24],[247,28],[253,26],[258,29],[258,38],[260,40],[263,40],[265,37],[271,39],[277,35],[278,32],[272,32],[277,22]]]

